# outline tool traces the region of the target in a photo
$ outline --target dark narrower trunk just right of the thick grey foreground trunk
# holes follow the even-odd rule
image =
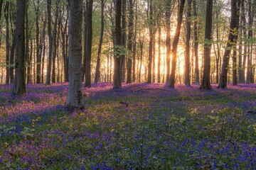
[[[92,4],[89,0],[87,8],[87,42],[85,53],[85,87],[91,87],[91,59],[92,59]]]

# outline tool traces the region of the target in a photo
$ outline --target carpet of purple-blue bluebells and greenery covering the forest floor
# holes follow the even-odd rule
[[[0,85],[0,169],[255,169],[256,84]]]

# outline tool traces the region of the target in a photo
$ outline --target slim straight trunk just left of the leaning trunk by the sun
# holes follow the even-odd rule
[[[171,70],[171,0],[166,0],[166,84],[170,84]]]

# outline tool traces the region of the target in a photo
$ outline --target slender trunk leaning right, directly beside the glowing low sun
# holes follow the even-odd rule
[[[178,10],[178,21],[177,27],[174,35],[173,49],[171,50],[172,60],[171,60],[171,76],[170,76],[170,84],[169,87],[174,88],[175,84],[175,75],[176,75],[176,63],[177,63],[177,50],[178,50],[178,39],[181,33],[181,23],[183,18],[183,8],[184,8],[185,0],[181,0],[181,4]]]

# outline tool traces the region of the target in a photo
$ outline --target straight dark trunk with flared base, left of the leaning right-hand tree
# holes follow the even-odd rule
[[[212,44],[212,14],[213,0],[207,0],[206,6],[206,28],[205,45],[203,48],[203,79],[199,89],[212,89],[210,86],[210,50]]]

